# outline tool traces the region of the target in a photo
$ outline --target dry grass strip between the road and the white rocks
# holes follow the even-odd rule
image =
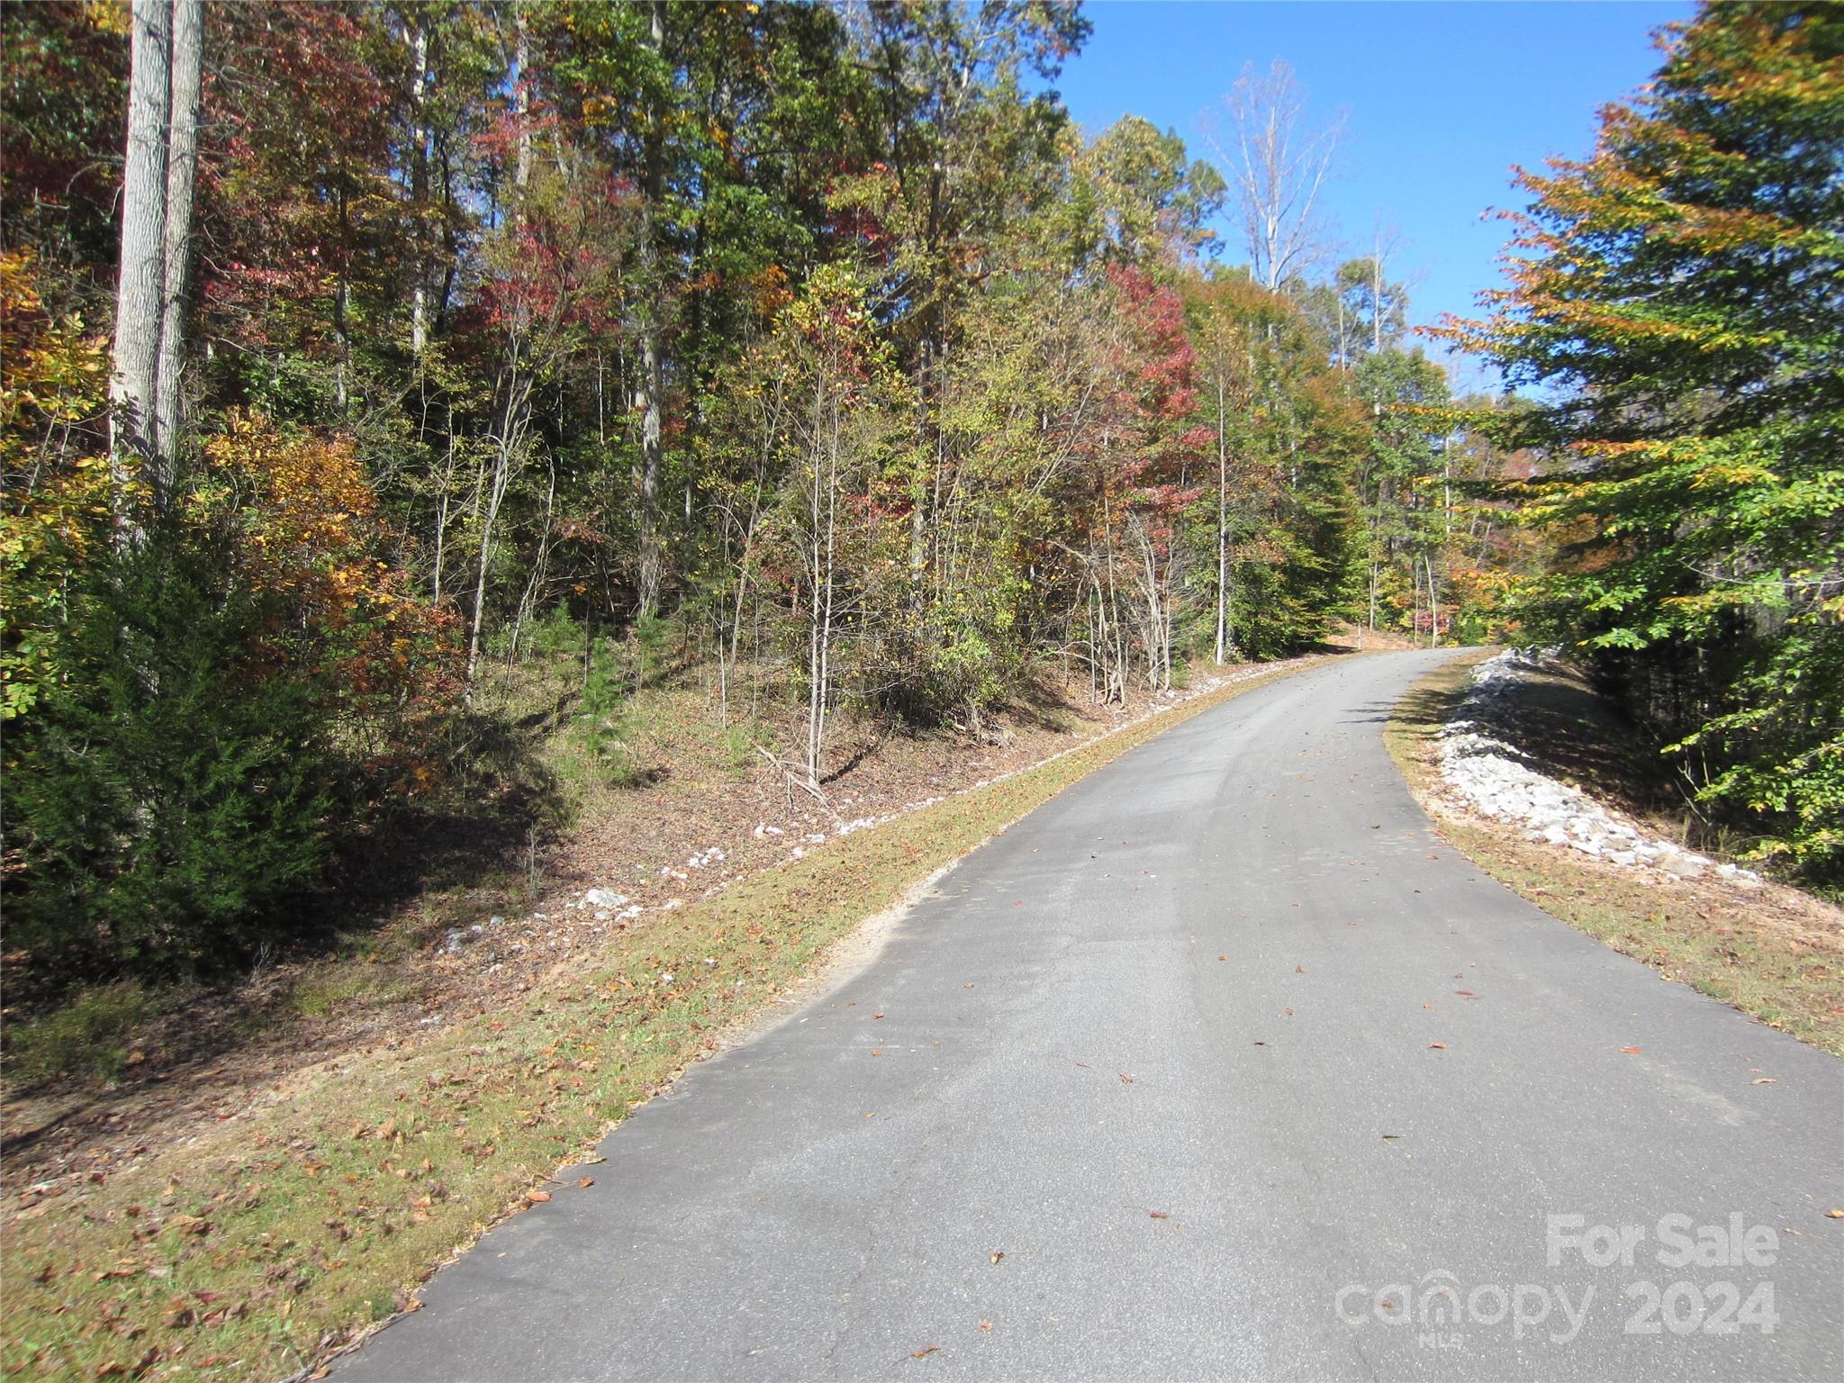
[[[1486,653],[1446,662],[1411,686],[1383,736],[1442,835],[1551,916],[1665,979],[1844,1057],[1844,940],[1824,924],[1826,904],[1778,885],[1754,892],[1715,880],[1647,885],[1630,869],[1527,841],[1516,826],[1442,810],[1433,797],[1440,780],[1435,734]],[[1619,752],[1617,745],[1580,749]]]

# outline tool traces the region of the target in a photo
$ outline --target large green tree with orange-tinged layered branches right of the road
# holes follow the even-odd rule
[[[1763,852],[1844,859],[1844,15],[1704,6],[1595,151],[1519,173],[1521,256],[1446,334],[1556,398],[1503,419],[1567,544],[1534,614],[1678,738]]]

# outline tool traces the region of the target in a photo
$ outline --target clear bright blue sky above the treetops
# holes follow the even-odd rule
[[[1472,312],[1499,282],[1505,223],[1483,212],[1519,205],[1510,164],[1588,153],[1595,111],[1656,70],[1650,31],[1691,11],[1663,0],[1088,0],[1095,33],[1057,87],[1090,133],[1130,112],[1204,155],[1199,116],[1223,109],[1243,63],[1285,59],[1313,120],[1346,116],[1326,199],[1335,234],[1357,254],[1374,223],[1392,227],[1411,317],[1424,323]],[[1232,227],[1219,230],[1224,258],[1241,262]]]

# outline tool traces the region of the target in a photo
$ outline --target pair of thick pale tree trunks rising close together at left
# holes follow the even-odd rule
[[[184,367],[186,278],[199,151],[203,0],[135,0],[129,33],[122,258],[109,382],[116,522],[135,540],[129,489],[155,507],[173,485]]]

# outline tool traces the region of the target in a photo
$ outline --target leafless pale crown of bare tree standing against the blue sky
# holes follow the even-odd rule
[[[1247,65],[1223,98],[1228,129],[1206,127],[1217,171],[1243,221],[1258,284],[1280,290],[1328,249],[1318,194],[1344,135],[1344,116],[1306,124],[1306,92],[1280,59],[1267,72]]]

